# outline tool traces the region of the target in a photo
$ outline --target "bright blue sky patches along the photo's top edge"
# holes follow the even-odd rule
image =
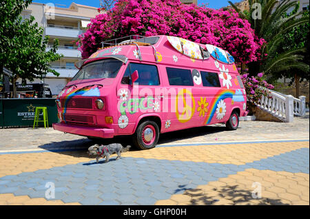
[[[68,8],[70,4],[73,2],[85,5],[85,6],[93,6],[96,8],[99,8],[99,0],[33,0],[33,2],[38,2],[38,3],[54,3],[56,7],[65,7]],[[225,6],[228,6],[229,3],[227,2],[228,0],[198,0],[198,4],[200,3],[209,3],[209,8],[222,8]],[[240,0],[231,0],[232,2],[238,2]],[[59,3],[61,5],[65,6],[59,6],[56,5],[56,3]]]

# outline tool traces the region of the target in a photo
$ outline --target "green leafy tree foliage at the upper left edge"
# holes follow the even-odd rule
[[[59,76],[50,69],[50,62],[62,57],[56,54],[58,41],[46,52],[49,38],[43,38],[43,28],[34,23],[34,17],[22,20],[19,16],[31,1],[3,0],[0,3],[0,63],[13,72],[15,80],[33,81],[48,72]]]

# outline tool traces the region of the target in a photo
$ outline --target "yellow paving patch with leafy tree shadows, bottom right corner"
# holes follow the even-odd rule
[[[245,169],[155,205],[309,205],[309,174]]]

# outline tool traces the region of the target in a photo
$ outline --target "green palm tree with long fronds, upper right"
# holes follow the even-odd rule
[[[249,12],[240,11],[234,3],[229,4],[239,13],[240,17],[251,23],[251,28],[259,38],[265,39],[267,43],[262,46],[261,53],[268,54],[267,59],[248,64],[249,74],[256,75],[258,72],[276,74],[283,70],[298,69],[309,72],[309,65],[304,63],[304,48],[293,48],[283,52],[281,45],[284,41],[283,34],[303,23],[309,22],[309,15],[301,17],[302,12],[287,15],[291,8],[299,8],[299,1],[284,0],[248,0]],[[252,16],[257,12],[256,4],[261,6],[261,19]]]

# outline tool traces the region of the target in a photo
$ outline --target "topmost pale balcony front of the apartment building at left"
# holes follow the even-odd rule
[[[71,26],[48,25],[48,27],[45,28],[45,35],[47,36],[60,36],[74,39],[77,39],[83,32],[85,32],[85,30]]]

